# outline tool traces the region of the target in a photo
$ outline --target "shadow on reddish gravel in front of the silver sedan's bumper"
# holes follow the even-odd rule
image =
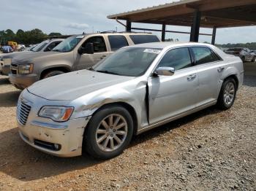
[[[20,139],[17,128],[0,133],[0,171],[23,182],[89,168],[101,162],[86,155],[61,158],[39,152]]]

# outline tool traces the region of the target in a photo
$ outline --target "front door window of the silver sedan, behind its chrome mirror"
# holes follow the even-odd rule
[[[184,47],[167,52],[157,67],[172,67],[175,70],[180,70],[190,66],[192,66],[192,63],[189,49]]]

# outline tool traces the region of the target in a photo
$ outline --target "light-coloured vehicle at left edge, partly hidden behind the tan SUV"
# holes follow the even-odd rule
[[[1,67],[0,67],[0,74],[1,75],[8,75],[10,74],[10,65],[12,63],[12,58],[15,58],[15,56],[23,55],[24,58],[26,56],[30,56],[30,54],[34,54],[34,52],[48,52],[53,49],[53,47],[56,47],[59,43],[64,41],[64,39],[52,39],[52,40],[45,40],[37,46],[32,46],[28,50],[24,50],[22,52],[12,52],[8,55],[2,55],[0,56],[1,61]]]

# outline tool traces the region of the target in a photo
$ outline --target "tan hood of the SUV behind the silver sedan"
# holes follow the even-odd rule
[[[23,63],[34,63],[37,60],[43,60],[44,58],[58,57],[63,52],[27,52],[26,54],[16,55],[12,59],[12,63],[23,64]]]

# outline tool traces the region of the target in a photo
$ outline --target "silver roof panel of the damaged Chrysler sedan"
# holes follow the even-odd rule
[[[198,43],[198,42],[151,42],[144,44],[136,44],[129,47],[143,47],[143,48],[160,48],[164,49],[167,47],[180,47],[180,46],[208,46],[211,47],[211,44]]]

